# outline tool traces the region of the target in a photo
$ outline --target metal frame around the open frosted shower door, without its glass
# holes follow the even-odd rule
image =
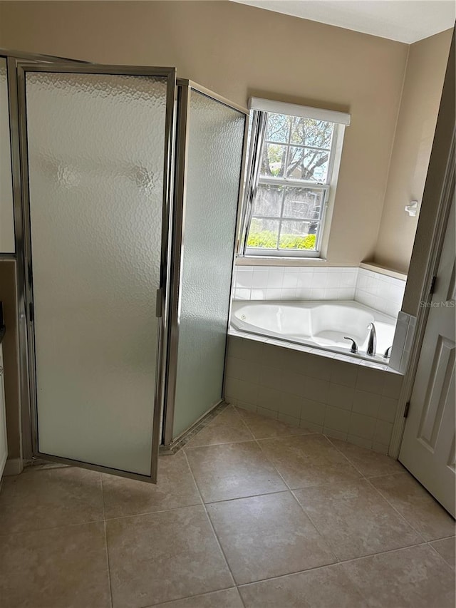
[[[57,59],[58,61],[58,59]],[[157,460],[160,445],[160,420],[165,394],[165,361],[167,354],[167,293],[169,290],[170,261],[168,259],[169,241],[172,222],[172,164],[173,164],[173,136],[175,123],[175,88],[176,70],[168,67],[152,66],[110,66],[98,65],[96,63],[27,63],[17,61],[17,108],[19,119],[19,145],[17,153],[20,159],[20,185],[21,185],[21,234],[16,236],[17,244],[21,245],[23,254],[24,282],[21,285],[24,308],[24,322],[26,324],[26,369],[27,390],[29,403],[29,418],[31,424],[31,458],[42,458],[56,463],[76,465],[82,468],[97,470],[101,473],[120,475],[125,478],[157,482]],[[54,73],[87,73],[87,74],[110,74],[113,76],[157,76],[167,79],[167,99],[165,108],[165,148],[163,166],[163,193],[162,193],[162,242],[160,259],[160,288],[157,290],[156,317],[160,319],[157,331],[157,368],[155,371],[155,396],[154,411],[152,416],[152,453],[151,453],[151,475],[141,475],[130,471],[95,465],[81,460],[73,460],[55,455],[41,453],[38,448],[38,408],[36,395],[36,360],[34,344],[34,324],[30,311],[33,310],[33,277],[32,277],[32,251],[31,251],[31,221],[30,200],[28,183],[28,153],[27,153],[27,121],[26,121],[26,72],[54,72]],[[16,181],[17,181],[16,176]],[[16,182],[15,182],[16,183]],[[17,225],[17,222],[16,222]],[[19,248],[16,249],[16,253]],[[21,321],[21,319],[19,319]],[[22,349],[20,349],[22,350]],[[21,353],[24,356],[24,353]],[[24,403],[22,404],[24,407]],[[25,409],[25,408],[24,408]],[[23,422],[24,422],[23,415]],[[25,427],[26,428],[26,427]],[[25,456],[25,455],[24,455]]]

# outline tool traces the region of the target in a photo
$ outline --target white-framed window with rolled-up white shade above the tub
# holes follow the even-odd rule
[[[350,116],[257,98],[250,108],[239,253],[319,257]]]

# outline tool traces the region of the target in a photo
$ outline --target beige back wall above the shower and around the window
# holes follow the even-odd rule
[[[408,45],[228,1],[11,1],[0,23],[0,46],[176,66],[241,105],[255,95],[350,112],[328,263],[372,259]]]

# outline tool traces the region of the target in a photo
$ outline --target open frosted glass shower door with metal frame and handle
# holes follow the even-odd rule
[[[35,453],[155,480],[175,71],[23,66],[19,82]]]

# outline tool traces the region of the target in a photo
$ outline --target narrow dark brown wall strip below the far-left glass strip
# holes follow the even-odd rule
[[[16,303],[16,262],[0,261],[0,302],[4,303],[6,334],[2,342],[8,431],[8,458],[21,456],[21,423],[19,409],[19,365]]]

